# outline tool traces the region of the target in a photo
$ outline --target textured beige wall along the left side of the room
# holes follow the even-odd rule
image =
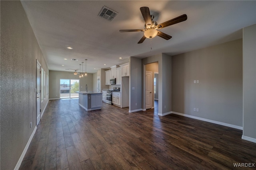
[[[48,67],[20,1],[0,3],[0,169],[13,170],[36,125],[36,59]]]

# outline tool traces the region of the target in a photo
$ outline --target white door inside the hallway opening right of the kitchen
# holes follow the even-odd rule
[[[152,72],[146,71],[146,109],[152,108]]]

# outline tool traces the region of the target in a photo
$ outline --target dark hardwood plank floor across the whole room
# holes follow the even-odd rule
[[[128,113],[103,103],[87,112],[77,99],[50,100],[20,170],[256,166],[256,144],[242,140],[241,130],[174,114],[160,117],[156,110]]]

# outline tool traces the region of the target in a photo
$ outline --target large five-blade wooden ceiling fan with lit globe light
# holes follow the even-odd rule
[[[187,20],[187,15],[183,14],[181,16],[178,16],[176,18],[173,18],[172,20],[165,21],[163,23],[158,24],[156,21],[153,21],[154,16],[150,15],[149,8],[148,7],[141,7],[140,12],[143,16],[143,19],[145,21],[144,29],[123,29],[119,30],[121,33],[123,32],[138,32],[138,31],[144,31],[143,37],[140,39],[138,44],[143,43],[143,41],[146,38],[154,38],[157,36],[163,38],[163,39],[171,39],[172,36],[163,33],[161,31],[158,31],[157,29],[162,29],[164,27],[168,27],[170,25],[186,21]]]

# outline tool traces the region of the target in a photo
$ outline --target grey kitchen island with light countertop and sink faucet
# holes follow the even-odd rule
[[[77,91],[79,94],[79,105],[86,111],[101,109],[102,93],[92,91]]]

